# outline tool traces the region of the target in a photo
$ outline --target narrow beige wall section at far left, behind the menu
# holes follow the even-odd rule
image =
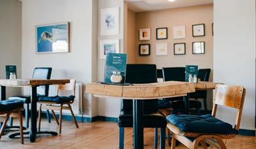
[[[16,65],[21,77],[22,3],[0,0],[0,78],[5,78],[5,65]],[[20,95],[20,88],[8,88],[7,97]]]

